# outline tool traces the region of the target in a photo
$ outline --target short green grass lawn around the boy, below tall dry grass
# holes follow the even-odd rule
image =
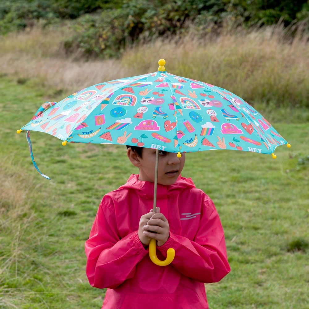
[[[63,147],[32,132],[36,163],[52,180],[41,177],[16,130],[51,98],[61,99],[35,79],[0,78],[1,308],[100,308],[104,290],[87,282],[84,242],[103,195],[138,172],[125,146]],[[308,308],[309,125],[291,122],[293,112],[289,123],[282,115],[273,124],[292,145],[278,147],[276,160],[229,150],[187,154],[182,176],[213,199],[231,264],[221,282],[206,285],[211,308]]]

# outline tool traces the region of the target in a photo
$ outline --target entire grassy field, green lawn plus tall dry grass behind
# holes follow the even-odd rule
[[[206,285],[213,309],[309,308],[309,49],[280,25],[203,40],[157,40],[119,60],[66,56],[66,27],[1,37],[0,308],[100,308],[104,290],[85,275],[84,243],[103,195],[138,170],[125,146],[72,144],[31,133],[44,101],[106,80],[153,72],[219,85],[253,104],[292,145],[270,155],[231,150],[187,154],[182,176],[214,201],[231,273]],[[301,108],[302,107],[302,108]]]

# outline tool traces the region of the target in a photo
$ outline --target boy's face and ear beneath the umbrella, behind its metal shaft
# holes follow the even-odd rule
[[[138,180],[155,181],[155,149],[143,148],[142,158],[137,157],[139,167]],[[158,184],[173,184],[184,168],[186,156],[181,154],[178,158],[176,153],[159,150]]]

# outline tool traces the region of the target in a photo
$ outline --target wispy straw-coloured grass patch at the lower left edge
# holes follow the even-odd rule
[[[1,157],[0,308],[24,308],[24,299],[29,295],[39,298],[42,308],[48,308],[40,294],[20,283],[33,280],[31,274],[36,269],[47,276],[50,273],[40,264],[36,254],[40,244],[47,242],[42,219],[32,209],[33,197],[38,201],[42,199],[44,191],[40,189],[41,185],[35,184],[34,177],[25,173],[22,164],[16,164],[15,155]],[[31,265],[30,269],[28,265]]]

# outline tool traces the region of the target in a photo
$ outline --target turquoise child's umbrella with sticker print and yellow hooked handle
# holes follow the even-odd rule
[[[203,150],[239,150],[271,154],[290,144],[259,113],[234,93],[191,78],[168,73],[165,60],[156,72],[116,79],[84,88],[60,102],[45,102],[22,130],[56,136],[62,145],[73,143],[120,144],[178,153]],[[155,175],[157,176],[157,175]],[[154,211],[156,207],[156,184]],[[150,257],[158,265],[166,261]],[[170,250],[170,249],[169,249]],[[174,249],[171,249],[173,251]],[[169,264],[168,263],[168,264]]]

